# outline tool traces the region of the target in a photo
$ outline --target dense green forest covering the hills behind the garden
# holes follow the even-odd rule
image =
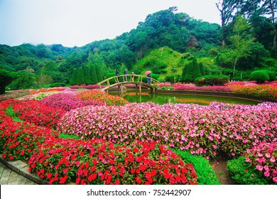
[[[161,82],[179,82],[192,60],[204,65],[207,75],[229,75],[231,80],[249,80],[254,70],[277,72],[277,1],[223,0],[214,6],[220,25],[171,7],[149,14],[121,36],[82,47],[0,45],[0,76],[10,75],[13,81],[6,80],[6,89],[17,90],[70,84],[72,75],[84,70],[96,73],[97,81],[127,69],[136,74],[153,70]],[[77,84],[95,81],[89,77]]]

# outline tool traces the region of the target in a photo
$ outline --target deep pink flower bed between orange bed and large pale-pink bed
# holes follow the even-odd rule
[[[56,109],[65,109],[66,111],[76,109],[77,107],[85,107],[87,105],[104,105],[103,102],[99,102],[96,100],[81,100],[80,98],[76,97],[76,95],[71,93],[50,95],[49,97],[45,97],[41,102],[42,104],[45,104],[48,107],[53,107]]]

